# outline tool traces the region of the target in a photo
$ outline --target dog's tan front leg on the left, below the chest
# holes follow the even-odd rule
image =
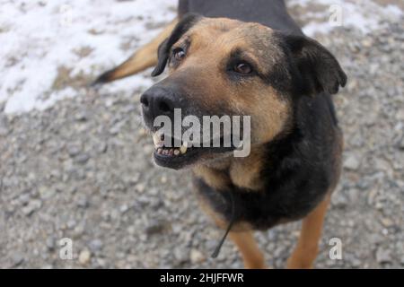
[[[252,231],[240,231],[230,232],[230,239],[239,248],[242,259],[244,261],[244,267],[248,269],[264,269],[265,259],[262,252],[259,250],[254,234]]]

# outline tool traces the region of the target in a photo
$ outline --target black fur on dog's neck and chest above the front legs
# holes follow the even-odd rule
[[[264,182],[262,190],[233,185],[215,190],[196,178],[199,195],[231,221],[233,193],[234,222],[249,222],[254,229],[265,230],[303,218],[337,180],[334,149],[340,131],[335,116],[325,109],[330,103],[327,94],[303,97],[296,103],[292,131],[266,146],[265,168],[259,177]]]

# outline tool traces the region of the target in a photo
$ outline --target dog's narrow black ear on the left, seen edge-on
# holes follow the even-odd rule
[[[201,16],[195,13],[186,14],[180,22],[175,26],[171,32],[171,36],[162,41],[158,49],[158,62],[154,68],[152,76],[162,74],[167,65],[167,61],[170,57],[171,46],[174,45],[196,22],[201,19]]]

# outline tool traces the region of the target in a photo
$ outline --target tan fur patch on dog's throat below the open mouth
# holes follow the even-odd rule
[[[263,168],[264,151],[264,145],[251,147],[248,157],[230,156],[220,161],[200,164],[193,171],[195,176],[202,178],[208,186],[217,190],[239,187],[259,191],[264,187],[259,177]]]

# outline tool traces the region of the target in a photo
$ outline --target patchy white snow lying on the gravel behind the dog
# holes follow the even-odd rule
[[[386,15],[400,17],[396,6],[382,8],[369,0],[291,0],[289,4],[338,4],[344,25],[368,32]],[[57,100],[80,96],[83,90],[52,89],[61,66],[70,76],[96,76],[121,63],[137,47],[175,17],[175,0],[0,0],[0,102],[5,113],[47,109]],[[309,6],[310,7],[310,6]],[[312,14],[323,19],[329,14]],[[328,18],[328,17],[326,17]],[[333,29],[312,22],[309,35]],[[129,48],[123,49],[122,46]],[[90,48],[88,56],[77,51]],[[149,73],[150,71],[148,71]],[[139,74],[102,87],[102,92],[131,91],[151,84]]]

